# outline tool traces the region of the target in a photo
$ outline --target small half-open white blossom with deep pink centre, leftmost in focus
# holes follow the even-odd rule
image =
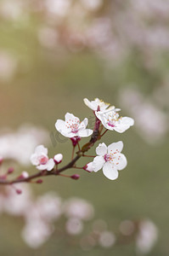
[[[37,146],[35,153],[31,154],[31,163],[38,170],[51,171],[54,168],[54,159],[48,159],[48,148],[42,145]]]

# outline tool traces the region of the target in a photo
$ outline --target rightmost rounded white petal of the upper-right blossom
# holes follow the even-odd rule
[[[115,122],[114,130],[117,132],[127,131],[130,126],[134,125],[134,120],[128,117],[123,117]]]

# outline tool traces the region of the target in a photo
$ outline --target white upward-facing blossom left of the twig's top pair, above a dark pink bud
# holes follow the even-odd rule
[[[92,135],[93,130],[86,129],[87,124],[87,118],[80,122],[80,119],[74,116],[74,114],[66,113],[65,121],[58,119],[55,127],[65,137],[88,137]]]

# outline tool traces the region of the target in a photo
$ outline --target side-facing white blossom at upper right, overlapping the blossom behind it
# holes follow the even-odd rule
[[[130,126],[134,125],[134,120],[129,117],[119,117],[117,111],[119,111],[119,109],[115,108],[105,111],[96,111],[95,113],[106,129],[121,133],[127,131]]]

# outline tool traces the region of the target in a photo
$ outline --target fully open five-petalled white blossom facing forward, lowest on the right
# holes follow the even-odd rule
[[[103,168],[104,176],[111,180],[118,177],[118,170],[122,170],[127,166],[127,159],[121,154],[123,143],[111,143],[108,147],[104,143],[100,143],[96,148],[96,156],[93,160],[93,171],[98,172]]]

